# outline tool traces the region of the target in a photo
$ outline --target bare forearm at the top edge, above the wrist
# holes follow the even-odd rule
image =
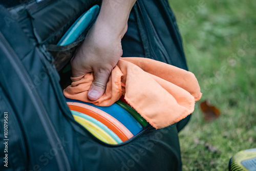
[[[136,0],[103,0],[95,23],[96,27],[105,29],[110,34],[124,34],[129,14],[135,2]]]

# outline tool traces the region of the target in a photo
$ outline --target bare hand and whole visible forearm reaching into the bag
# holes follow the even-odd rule
[[[71,59],[73,77],[94,72],[88,98],[97,100],[106,88],[112,69],[122,56],[121,39],[136,0],[103,0],[99,16]]]

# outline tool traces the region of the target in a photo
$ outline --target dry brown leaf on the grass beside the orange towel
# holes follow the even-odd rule
[[[220,110],[215,106],[209,105],[207,100],[200,103],[200,108],[203,112],[205,121],[217,119],[221,114]]]

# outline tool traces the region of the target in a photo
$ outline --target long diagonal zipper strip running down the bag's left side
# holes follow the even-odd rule
[[[9,59],[11,65],[13,66],[14,70],[16,71],[17,75],[22,80],[25,89],[27,90],[31,101],[33,102],[34,108],[40,118],[42,126],[46,131],[46,134],[49,138],[49,143],[53,148],[57,148],[57,144],[61,144],[60,139],[54,129],[54,126],[47,114],[47,111],[42,104],[42,101],[36,91],[36,88],[27,73],[22,61],[20,61],[19,57],[15,53],[15,51],[10,46],[9,42],[6,40],[2,32],[0,32],[0,47],[3,48],[7,58]],[[58,148],[57,148],[58,149]],[[60,153],[56,154],[56,161],[58,163],[59,170],[71,170],[69,160],[63,148],[59,149]],[[60,155],[61,154],[61,155]]]

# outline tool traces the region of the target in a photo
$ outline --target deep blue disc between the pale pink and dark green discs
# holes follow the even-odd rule
[[[66,98],[66,101],[88,104],[110,114],[111,116],[116,118],[119,122],[121,122],[125,127],[127,127],[127,129],[133,135],[138,134],[143,129],[141,124],[130,113],[125,111],[116,103],[112,104],[111,106],[98,106],[93,103],[83,102],[80,100],[74,100],[69,98]]]

